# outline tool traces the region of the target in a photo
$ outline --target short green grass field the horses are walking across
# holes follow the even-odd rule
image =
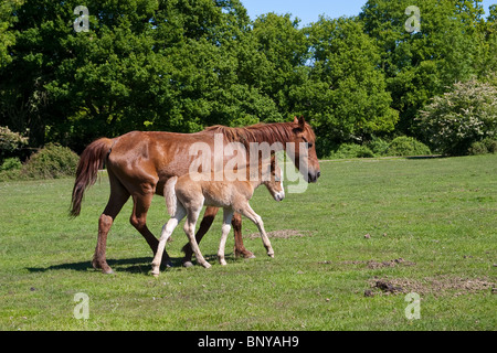
[[[218,217],[201,243],[212,268],[179,266],[178,227],[177,267],[158,279],[130,202],[108,238],[115,275],[91,267],[105,175],[73,221],[73,180],[0,183],[0,330],[497,329],[497,156],[324,161],[321,175],[282,203],[257,190],[251,204],[273,232],[274,259],[244,222],[257,257],[235,259],[230,236],[229,265],[218,265]],[[157,196],[150,229],[165,221]],[[80,292],[87,320],[74,318]],[[421,297],[419,320],[405,317],[409,292]]]

